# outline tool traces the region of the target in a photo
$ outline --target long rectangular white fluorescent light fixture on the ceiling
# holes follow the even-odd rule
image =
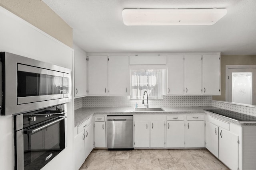
[[[213,25],[227,14],[213,9],[124,9],[125,25]]]

